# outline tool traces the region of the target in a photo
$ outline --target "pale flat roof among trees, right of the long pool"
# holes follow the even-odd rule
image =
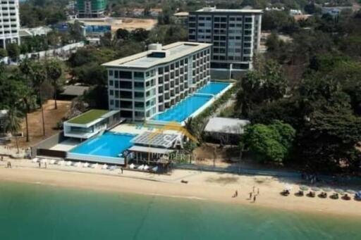
[[[211,118],[204,128],[204,132],[243,134],[245,126],[249,124],[249,120],[240,120],[237,118]]]

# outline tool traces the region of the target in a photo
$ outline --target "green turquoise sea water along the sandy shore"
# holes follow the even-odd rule
[[[349,240],[361,239],[360,226],[328,215],[0,182],[0,239]]]

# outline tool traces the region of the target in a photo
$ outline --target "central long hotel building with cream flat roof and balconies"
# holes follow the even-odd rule
[[[149,120],[211,80],[212,44],[150,44],[148,51],[104,63],[109,109],[121,118]]]

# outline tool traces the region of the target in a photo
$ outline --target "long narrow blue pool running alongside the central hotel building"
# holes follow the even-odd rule
[[[183,122],[192,113],[201,108],[205,103],[212,99],[211,95],[203,94],[219,94],[228,87],[229,83],[209,82],[207,85],[195,91],[194,94],[180,101],[175,106],[165,110],[163,113],[155,115],[152,120],[164,122]]]

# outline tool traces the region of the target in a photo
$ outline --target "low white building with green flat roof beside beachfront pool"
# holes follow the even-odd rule
[[[90,139],[120,122],[119,110],[89,110],[63,123],[64,136]]]

